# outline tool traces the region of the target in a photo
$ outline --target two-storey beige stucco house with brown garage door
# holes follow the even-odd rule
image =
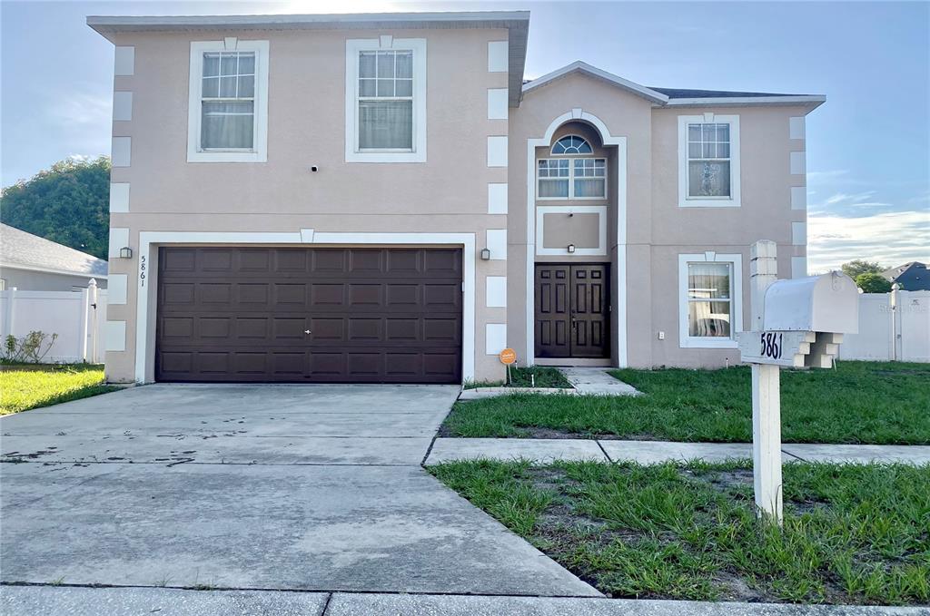
[[[524,83],[528,12],[87,22],[115,45],[112,380],[722,366],[751,243],[805,275],[824,97]]]

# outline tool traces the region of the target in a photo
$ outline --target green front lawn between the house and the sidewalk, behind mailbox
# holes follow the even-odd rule
[[[458,402],[443,434],[750,442],[750,369],[618,370],[643,396],[514,395]],[[785,442],[930,443],[930,364],[781,371]],[[554,436],[558,436],[555,434]]]

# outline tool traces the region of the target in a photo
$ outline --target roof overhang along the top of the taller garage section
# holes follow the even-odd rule
[[[250,30],[426,30],[508,31],[510,105],[520,104],[526,60],[529,11],[434,13],[342,13],[323,15],[90,16],[87,25],[113,41],[118,33],[230,32]]]

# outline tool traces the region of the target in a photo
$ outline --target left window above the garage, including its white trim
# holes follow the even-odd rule
[[[188,162],[268,160],[268,41],[191,44]]]

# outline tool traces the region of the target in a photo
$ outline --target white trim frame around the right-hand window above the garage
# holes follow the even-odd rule
[[[358,150],[358,54],[413,51],[413,151]],[[381,36],[346,41],[346,163],[426,163],[426,39]]]

